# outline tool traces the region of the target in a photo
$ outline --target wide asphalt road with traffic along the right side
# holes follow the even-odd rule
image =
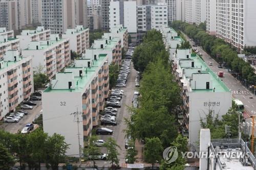
[[[184,34],[185,35],[185,34]],[[195,44],[189,37],[185,35],[186,39],[190,41],[190,44]],[[236,78],[234,78],[231,74],[229,74],[226,68],[218,68],[218,63],[212,59],[205,51],[202,50],[200,46],[193,47],[197,48],[199,53],[202,53],[202,58],[205,63],[218,74],[219,71],[224,72],[224,77],[221,80],[225,83],[225,85],[231,90],[232,96],[235,99],[238,99],[243,102],[244,107],[248,114],[256,116],[256,96],[253,95],[248,89],[246,89]],[[209,62],[212,63],[212,66],[209,65]],[[241,128],[245,128],[245,132],[247,134],[251,134],[252,129],[252,119],[246,117],[246,124],[242,124]],[[254,128],[256,128],[256,119],[254,123]],[[244,129],[243,129],[244,130]],[[256,136],[256,130],[254,130],[254,136]]]

